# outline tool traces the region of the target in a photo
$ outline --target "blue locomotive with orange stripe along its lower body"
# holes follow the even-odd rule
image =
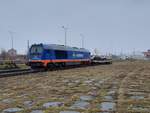
[[[33,44],[28,51],[28,65],[35,67],[60,67],[90,64],[90,52],[84,48],[57,44]]]

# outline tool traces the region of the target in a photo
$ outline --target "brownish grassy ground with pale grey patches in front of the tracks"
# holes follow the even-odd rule
[[[148,113],[150,62],[0,78],[2,113]]]

